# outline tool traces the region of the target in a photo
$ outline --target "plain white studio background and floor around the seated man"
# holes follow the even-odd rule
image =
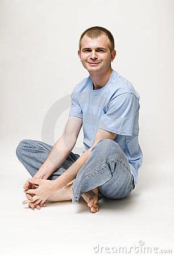
[[[1,0],[0,19],[2,255],[93,255],[97,243],[134,245],[139,240],[171,247],[173,1]],[[96,215],[82,202],[56,203],[37,212],[21,204],[30,176],[15,148],[27,138],[53,143],[63,133],[70,94],[89,75],[77,51],[80,35],[92,26],[111,31],[117,51],[112,68],[140,95],[138,185],[131,199],[105,202]],[[81,131],[73,152],[81,154],[82,147]]]

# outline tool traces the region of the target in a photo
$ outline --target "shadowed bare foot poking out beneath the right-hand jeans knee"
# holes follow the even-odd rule
[[[82,194],[82,197],[86,201],[88,207],[94,213],[98,212],[98,209],[99,209],[98,193],[99,193],[99,189],[97,187]]]

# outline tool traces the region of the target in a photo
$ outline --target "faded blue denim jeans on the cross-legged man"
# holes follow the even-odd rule
[[[47,159],[52,147],[41,141],[23,139],[16,148],[16,155],[31,176],[34,176]],[[79,157],[80,155],[71,152],[48,179],[57,179]],[[129,196],[134,189],[134,177],[126,155],[118,143],[111,139],[101,139],[92,148],[88,160],[78,171],[73,182],[72,203],[78,203],[82,193],[96,187],[109,199]]]

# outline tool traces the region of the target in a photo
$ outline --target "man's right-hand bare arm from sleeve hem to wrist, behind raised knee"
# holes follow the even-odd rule
[[[96,138],[92,147],[86,150],[84,154],[82,154],[80,158],[78,158],[76,162],[74,162],[72,166],[68,168],[67,171],[65,171],[56,180],[53,180],[53,182],[55,183],[54,187],[56,189],[61,189],[76,177],[78,171],[81,169],[81,167],[85,164],[86,160],[89,158],[92,148],[96,146],[96,144],[100,141],[100,139],[114,139],[116,135],[117,134],[111,133],[110,131],[98,129],[96,133]]]

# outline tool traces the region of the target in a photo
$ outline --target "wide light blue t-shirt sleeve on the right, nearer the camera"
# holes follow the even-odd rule
[[[114,97],[98,127],[111,133],[132,136],[138,104],[138,98],[130,92]]]

